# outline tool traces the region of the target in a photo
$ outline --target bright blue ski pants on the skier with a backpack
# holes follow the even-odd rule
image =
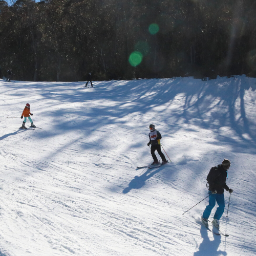
[[[209,191],[209,204],[206,206],[204,212],[203,212],[203,218],[208,219],[210,216],[210,212],[212,208],[214,208],[215,204],[219,205],[217,208],[214,219],[220,220],[221,216],[223,215],[224,209],[225,209],[225,199],[224,199],[224,193],[222,194],[211,194],[211,191]]]

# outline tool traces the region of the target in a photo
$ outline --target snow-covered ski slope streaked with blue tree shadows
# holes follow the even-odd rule
[[[0,80],[0,255],[255,255],[255,83]],[[26,103],[42,129],[18,129]],[[136,169],[150,123],[172,163]],[[224,158],[229,237],[200,224],[207,199],[182,215]]]

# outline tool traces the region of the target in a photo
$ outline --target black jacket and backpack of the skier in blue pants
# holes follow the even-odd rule
[[[223,194],[224,188],[226,190],[229,189],[229,187],[226,184],[226,178],[227,178],[227,170],[224,169],[222,164],[219,164],[218,167],[217,166],[212,167],[206,178],[206,180],[209,183],[209,190],[210,191],[217,190],[218,194]]]

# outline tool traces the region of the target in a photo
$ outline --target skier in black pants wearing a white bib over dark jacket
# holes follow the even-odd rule
[[[153,157],[154,162],[152,164],[157,164],[158,159],[157,156],[155,154],[155,151],[158,152],[158,154],[160,155],[160,157],[162,158],[162,164],[168,163],[168,161],[166,160],[164,154],[161,151],[161,144],[160,144],[160,139],[162,139],[161,134],[155,129],[155,125],[151,124],[150,125],[150,133],[148,134],[148,136],[150,137],[150,142],[147,143],[148,146],[151,145],[151,155]]]

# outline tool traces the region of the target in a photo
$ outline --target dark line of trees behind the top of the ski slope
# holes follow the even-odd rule
[[[0,1],[0,67],[32,81],[255,76],[255,13],[255,0]]]

